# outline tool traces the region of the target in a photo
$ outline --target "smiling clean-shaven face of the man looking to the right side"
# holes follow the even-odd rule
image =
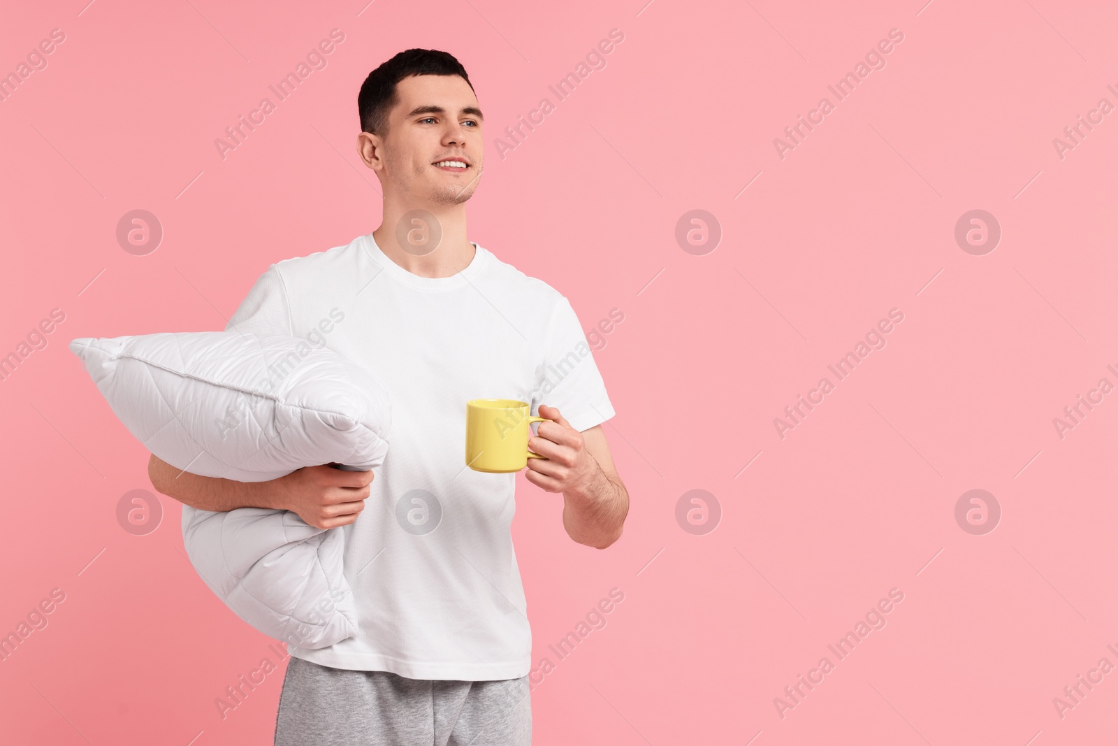
[[[383,141],[385,189],[411,204],[470,199],[484,154],[482,113],[470,84],[457,75],[413,75],[396,93]]]

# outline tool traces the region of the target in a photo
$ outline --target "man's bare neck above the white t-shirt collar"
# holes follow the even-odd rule
[[[436,237],[438,245],[434,249],[423,245]],[[383,219],[372,232],[372,239],[388,258],[420,277],[455,275],[470,265],[475,252],[466,238],[465,205],[416,208],[386,202]]]

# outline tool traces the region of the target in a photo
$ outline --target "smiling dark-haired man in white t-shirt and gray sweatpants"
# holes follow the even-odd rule
[[[361,631],[325,649],[288,645],[277,745],[529,744],[515,474],[464,463],[465,405],[520,399],[553,421],[529,440],[544,459],[529,459],[524,476],[562,493],[567,533],[599,549],[628,512],[600,426],[614,409],[567,299],[466,239],[483,119],[462,65],[400,53],[369,74],[358,108],[358,153],[383,191],[380,227],[271,265],[226,329],[316,334],[368,368],[391,397],[383,464],[250,484],[152,456],[152,484],[202,510],[280,508],[345,527]]]

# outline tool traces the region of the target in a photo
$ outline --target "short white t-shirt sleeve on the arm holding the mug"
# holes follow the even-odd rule
[[[570,301],[560,296],[551,313],[543,362],[532,390],[532,414],[539,406],[556,407],[582,432],[614,416],[614,405]]]

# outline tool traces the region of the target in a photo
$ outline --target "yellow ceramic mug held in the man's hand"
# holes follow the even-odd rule
[[[552,422],[530,415],[532,407],[517,399],[466,402],[466,465],[493,474],[519,472],[529,459],[546,459],[528,450],[531,424]]]

